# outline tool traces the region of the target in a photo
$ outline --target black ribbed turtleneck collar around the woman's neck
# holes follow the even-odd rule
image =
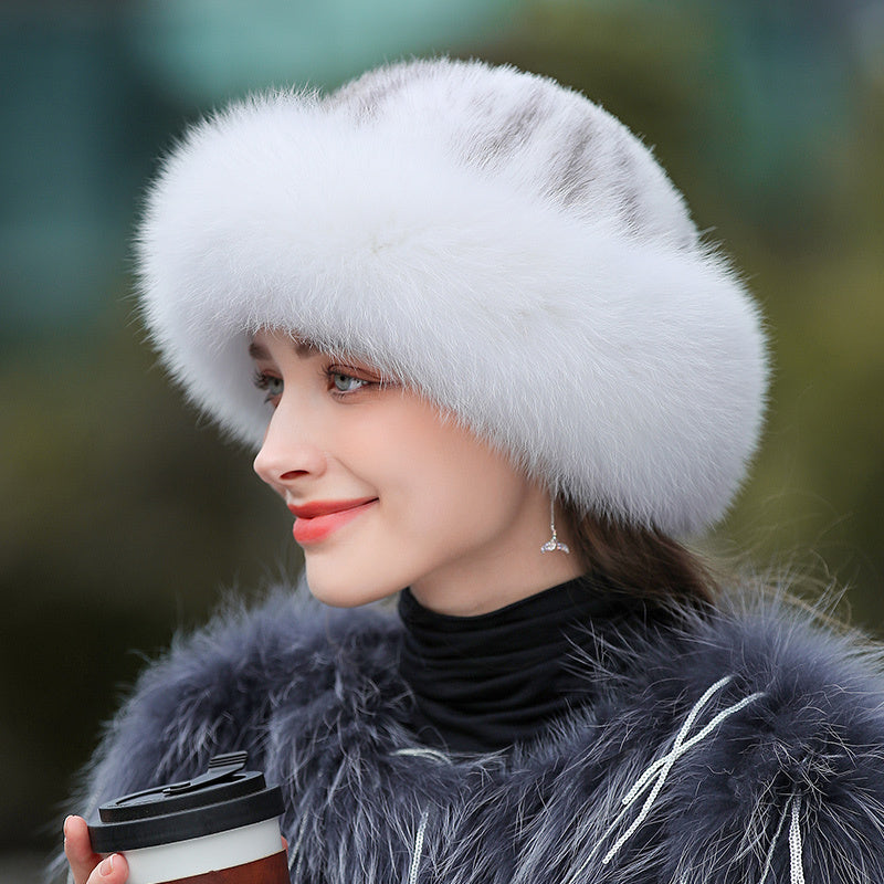
[[[576,657],[598,660],[602,646],[615,652],[623,628],[643,630],[650,613],[644,600],[594,576],[477,617],[435,613],[406,589],[399,670],[415,698],[412,728],[424,745],[455,753],[530,739],[591,702],[591,681]]]

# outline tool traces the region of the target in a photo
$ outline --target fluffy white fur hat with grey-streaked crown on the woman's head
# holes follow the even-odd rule
[[[141,305],[190,399],[259,444],[250,335],[368,360],[578,508],[722,516],[767,368],[736,274],[622,124],[544,77],[418,61],[197,125],[148,193]]]

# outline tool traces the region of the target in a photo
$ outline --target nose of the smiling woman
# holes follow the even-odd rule
[[[307,432],[303,415],[296,420],[280,403],[255,456],[255,473],[282,495],[292,490],[293,483],[320,476],[326,470],[326,455],[313,435]]]

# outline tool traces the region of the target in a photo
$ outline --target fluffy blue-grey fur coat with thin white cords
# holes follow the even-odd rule
[[[215,621],[144,674],[76,809],[246,749],[282,783],[293,884],[884,881],[884,685],[850,640],[687,617],[587,656],[597,699],[536,744],[457,758],[403,725],[400,630],[291,596]],[[664,758],[635,825],[649,791],[623,799]]]

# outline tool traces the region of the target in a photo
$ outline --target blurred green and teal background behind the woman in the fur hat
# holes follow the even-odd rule
[[[753,476],[709,546],[844,589],[884,636],[884,2],[0,4],[0,880],[38,880],[101,722],[287,514],[164,380],[130,297],[157,157],[251,90],[446,53],[551,75],[654,146],[775,351]]]

